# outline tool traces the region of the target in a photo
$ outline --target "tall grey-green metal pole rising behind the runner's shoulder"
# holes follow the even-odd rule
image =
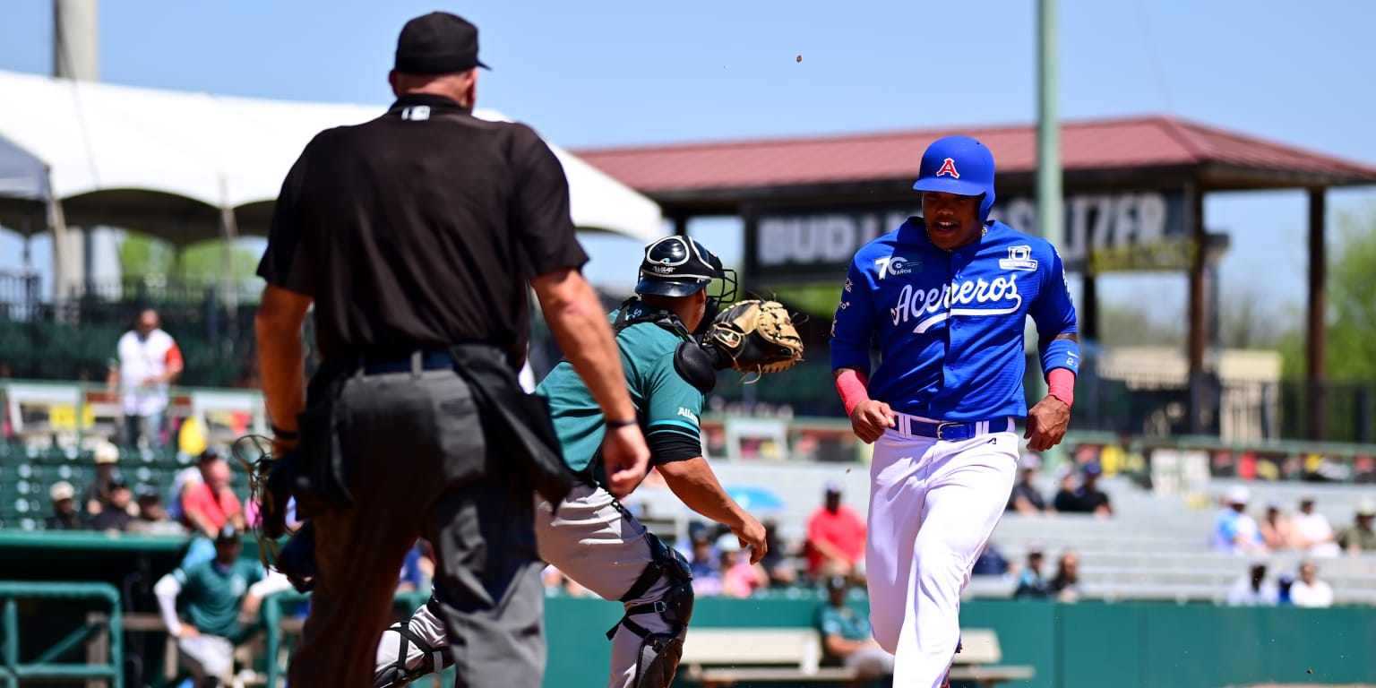
[[[1036,122],[1036,212],[1038,228],[1042,238],[1051,242],[1058,250],[1065,238],[1065,222],[1062,219],[1062,191],[1061,191],[1061,117],[1057,107],[1060,96],[1058,88],[1058,61],[1060,32],[1057,25],[1057,0],[1038,0],[1038,122]],[[1040,400],[1047,394],[1046,378],[1042,374],[1032,376],[1035,389],[1032,399]],[[1035,402],[1033,402],[1035,403]],[[1058,464],[1064,457],[1061,447],[1043,451],[1047,465]]]

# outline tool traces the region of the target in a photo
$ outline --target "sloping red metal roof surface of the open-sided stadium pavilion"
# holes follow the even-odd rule
[[[905,179],[932,140],[965,133],[993,151],[1000,175],[1036,169],[1036,127],[973,127],[793,139],[687,143],[575,151],[649,193]],[[1328,184],[1376,184],[1376,166],[1185,121],[1137,117],[1065,122],[1066,172],[1222,165]],[[1278,179],[1278,182],[1282,182]],[[1277,187],[1287,186],[1277,183]]]

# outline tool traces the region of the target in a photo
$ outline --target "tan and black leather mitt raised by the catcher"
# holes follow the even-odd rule
[[[702,348],[718,369],[779,373],[802,361],[802,338],[779,301],[747,299],[717,314]]]

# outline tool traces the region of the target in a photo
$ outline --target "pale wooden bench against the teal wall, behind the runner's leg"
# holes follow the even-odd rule
[[[955,655],[952,681],[981,687],[1032,678],[1031,666],[1003,666],[999,638],[989,629],[963,629],[963,649]],[[841,666],[820,666],[821,634],[816,629],[702,629],[689,627],[684,640],[680,673],[703,688],[740,681],[810,682],[852,681],[856,673]]]

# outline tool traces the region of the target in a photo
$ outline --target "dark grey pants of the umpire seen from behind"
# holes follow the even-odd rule
[[[425,537],[457,685],[538,688],[531,486],[515,461],[486,451],[468,385],[450,370],[355,376],[336,414],[354,508],[314,516],[319,578],[290,685],[372,688],[396,572]]]

